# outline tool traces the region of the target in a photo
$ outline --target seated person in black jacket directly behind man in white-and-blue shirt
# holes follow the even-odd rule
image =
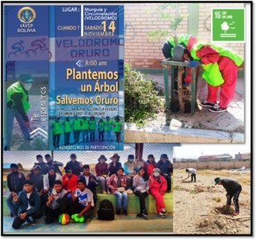
[[[96,192],[96,187],[99,185],[98,180],[93,174],[90,173],[90,166],[89,165],[84,165],[82,167],[82,174],[80,175],[79,179],[85,181],[86,183],[86,188],[91,190],[93,193],[93,203],[94,205],[97,203],[97,192]]]

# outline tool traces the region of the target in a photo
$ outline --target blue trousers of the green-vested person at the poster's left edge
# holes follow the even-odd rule
[[[28,130],[28,127],[26,127],[25,121],[21,117],[21,114],[15,109],[7,108],[6,109],[6,133],[4,138],[4,145],[6,147],[10,147],[10,142],[12,141],[13,121],[15,120],[15,118],[19,123],[19,127],[21,128],[24,139],[25,140],[30,139],[30,131]]]

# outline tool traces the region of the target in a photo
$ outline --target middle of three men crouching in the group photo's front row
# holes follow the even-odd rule
[[[53,223],[53,221],[62,213],[66,212],[66,190],[62,188],[62,181],[57,180],[53,185],[53,190],[48,194],[48,201],[46,202],[46,223]]]

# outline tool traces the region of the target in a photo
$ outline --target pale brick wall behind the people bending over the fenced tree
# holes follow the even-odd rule
[[[150,30],[168,29],[168,21],[158,18],[158,3],[125,3],[125,62],[138,68],[162,68],[162,45],[168,36],[149,41]],[[199,3],[199,39],[210,42],[210,8],[243,7],[243,3]],[[179,13],[185,15],[176,30],[178,35],[188,33],[188,3],[179,4]],[[175,10],[170,10],[175,15]],[[208,19],[207,19],[208,18]],[[205,21],[206,19],[206,21]],[[220,44],[244,56],[244,44]]]

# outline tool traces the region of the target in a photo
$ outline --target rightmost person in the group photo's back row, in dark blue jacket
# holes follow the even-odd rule
[[[167,154],[162,154],[160,160],[157,163],[157,167],[161,169],[161,174],[167,181],[167,192],[171,191],[171,174],[173,172],[172,163],[170,162]]]

